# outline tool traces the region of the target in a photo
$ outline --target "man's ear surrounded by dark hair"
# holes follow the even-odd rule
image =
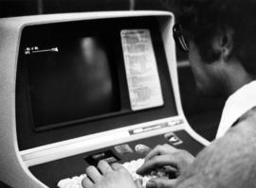
[[[228,60],[233,48],[233,30],[227,26],[219,27],[212,44],[220,53],[220,59]]]

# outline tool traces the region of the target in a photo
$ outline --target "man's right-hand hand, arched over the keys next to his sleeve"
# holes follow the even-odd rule
[[[137,174],[147,175],[155,169],[168,166],[171,174],[182,174],[192,164],[194,157],[186,150],[176,149],[172,145],[157,145],[145,158],[144,164],[137,169]],[[177,177],[172,177],[177,178]],[[172,188],[176,179],[158,178],[151,179],[147,188]]]

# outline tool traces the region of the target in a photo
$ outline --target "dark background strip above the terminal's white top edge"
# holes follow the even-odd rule
[[[175,0],[0,0],[0,17],[47,13],[157,9],[172,10]]]

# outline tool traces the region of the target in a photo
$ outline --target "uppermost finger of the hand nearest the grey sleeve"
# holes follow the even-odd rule
[[[153,150],[151,150],[148,155],[145,157],[145,161],[148,161],[154,158],[157,155],[171,154],[174,153],[177,149],[172,145],[157,145]]]

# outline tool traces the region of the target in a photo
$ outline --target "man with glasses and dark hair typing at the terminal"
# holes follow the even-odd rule
[[[176,179],[151,179],[157,188],[256,187],[256,0],[178,0],[180,18],[188,36],[178,41],[185,50],[200,94],[228,98],[217,132],[218,139],[196,158],[171,145],[158,145],[137,170],[147,174],[155,167],[172,165]],[[177,27],[174,29],[178,29]],[[179,33],[182,39],[184,36]],[[100,171],[101,173],[100,173]],[[120,165],[99,162],[89,166],[85,188],[136,188]]]

